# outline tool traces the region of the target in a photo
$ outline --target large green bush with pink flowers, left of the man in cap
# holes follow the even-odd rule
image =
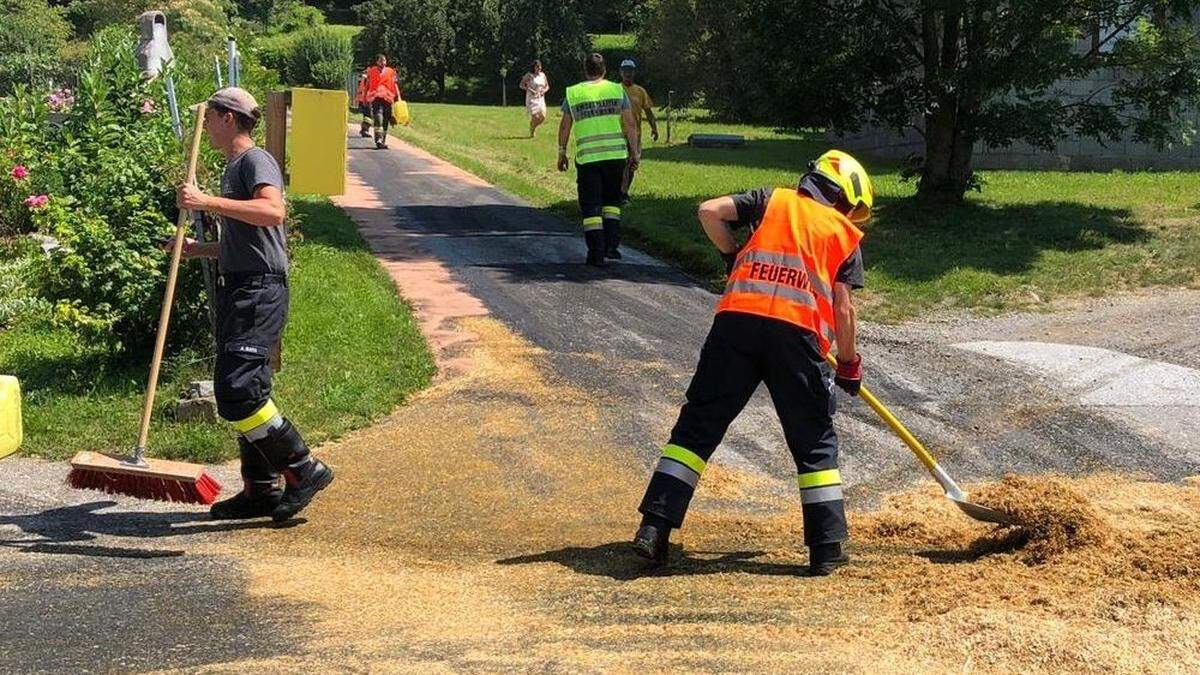
[[[0,157],[24,169],[17,179],[0,167],[0,228],[53,238],[24,268],[28,288],[58,324],[114,354],[154,335],[166,277],[155,240],[173,233],[182,163],[162,80],[140,77],[133,44],[128,30],[104,29],[73,91],[0,98]],[[208,175],[218,161],[206,155]],[[194,269],[180,279],[176,344],[208,335],[202,287]]]

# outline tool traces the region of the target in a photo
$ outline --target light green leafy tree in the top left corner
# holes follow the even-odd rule
[[[58,74],[58,55],[70,35],[62,10],[46,0],[0,0],[0,94]]]

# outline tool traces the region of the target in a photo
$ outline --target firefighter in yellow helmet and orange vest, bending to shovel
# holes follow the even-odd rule
[[[638,507],[638,555],[666,562],[671,530],[683,525],[716,446],[766,383],[796,461],[809,574],[826,575],[850,561],[842,550],[848,534],[833,387],[857,395],[863,381],[851,291],[863,286],[858,226],[874,202],[862,165],[830,150],[809,165],[794,189],[752,190],[700,205],[728,282],[688,402]],[[752,229],[740,250],[731,229],[739,225]],[[836,370],[826,362],[834,346]]]

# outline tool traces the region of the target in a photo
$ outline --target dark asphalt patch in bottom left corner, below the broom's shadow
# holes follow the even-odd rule
[[[6,555],[0,565],[0,673],[190,668],[304,644],[307,608],[251,598],[223,557]]]

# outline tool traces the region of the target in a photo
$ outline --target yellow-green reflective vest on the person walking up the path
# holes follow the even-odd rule
[[[620,102],[625,90],[607,79],[566,88],[566,104],[575,120],[575,161],[581,165],[629,157],[620,130]]]

